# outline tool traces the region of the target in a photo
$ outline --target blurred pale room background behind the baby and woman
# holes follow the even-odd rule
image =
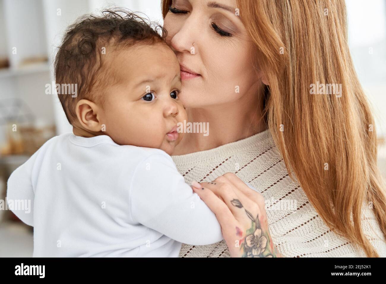
[[[376,117],[386,178],[386,0],[346,5],[351,55]],[[46,94],[64,30],[80,15],[114,6],[163,23],[161,0],[0,0],[0,201],[15,168],[47,139],[72,131],[56,95]],[[32,227],[0,209],[0,257],[31,257],[32,245]]]

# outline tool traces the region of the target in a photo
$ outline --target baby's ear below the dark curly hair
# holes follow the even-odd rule
[[[76,104],[78,122],[88,131],[101,131],[102,123],[99,121],[101,112],[101,108],[91,100],[81,99]]]

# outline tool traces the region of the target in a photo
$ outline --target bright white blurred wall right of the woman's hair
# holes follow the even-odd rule
[[[346,0],[349,46],[370,100],[378,136],[386,137],[386,1]]]

